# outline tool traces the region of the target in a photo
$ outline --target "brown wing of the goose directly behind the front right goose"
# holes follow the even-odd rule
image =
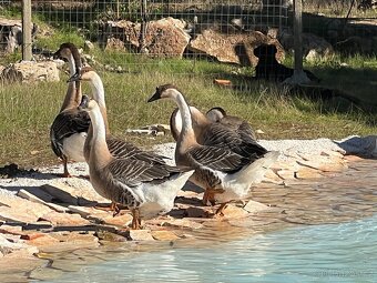
[[[242,156],[263,155],[267,150],[245,132],[232,131],[221,123],[213,123],[203,135],[203,144],[230,149]]]

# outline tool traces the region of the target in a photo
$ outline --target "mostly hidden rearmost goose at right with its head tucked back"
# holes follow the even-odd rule
[[[222,123],[231,130],[236,131],[240,135],[245,134],[256,141],[254,130],[247,121],[235,115],[226,114],[226,111],[221,107],[211,108],[206,112],[206,117],[212,122]]]

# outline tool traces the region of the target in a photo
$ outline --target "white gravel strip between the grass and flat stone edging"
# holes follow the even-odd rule
[[[267,150],[281,151],[287,155],[291,153],[307,153],[319,154],[322,151],[335,151],[343,154],[363,154],[369,156],[377,156],[376,150],[376,135],[369,135],[365,138],[348,137],[339,141],[333,141],[330,139],[316,139],[316,140],[278,140],[278,141],[258,141]],[[167,163],[174,163],[174,149],[175,143],[164,143],[155,145],[155,151],[160,154],[170,158]],[[284,154],[282,154],[284,159]],[[63,168],[61,164],[50,168],[35,169],[34,172],[26,171],[19,174],[17,178],[0,179],[0,194],[16,194],[21,189],[38,188],[43,184],[64,183],[73,188],[80,189],[81,186],[88,186],[89,181],[82,178],[57,178],[53,173],[62,173]],[[88,175],[86,163],[70,163],[69,171],[72,175]]]

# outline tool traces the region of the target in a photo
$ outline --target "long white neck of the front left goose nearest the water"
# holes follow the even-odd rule
[[[106,144],[106,130],[99,108],[90,111],[89,115],[92,125],[92,137],[88,139],[89,144],[91,145],[89,165],[101,169],[112,160],[112,155]]]

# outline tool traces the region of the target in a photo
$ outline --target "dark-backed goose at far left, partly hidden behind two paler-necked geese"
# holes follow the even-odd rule
[[[81,68],[79,51],[72,43],[61,44],[54,57],[61,57],[69,61],[71,75]],[[57,156],[63,161],[64,172],[62,176],[64,178],[71,176],[68,171],[69,160],[85,161],[83,148],[90,119],[86,112],[78,110],[81,95],[80,82],[70,82],[63,104],[50,128],[51,148]]]

